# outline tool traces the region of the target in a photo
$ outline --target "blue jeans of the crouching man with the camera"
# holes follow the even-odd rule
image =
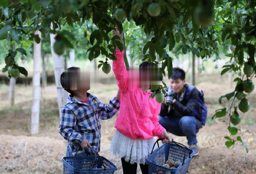
[[[186,136],[188,144],[196,144],[196,133],[202,128],[201,121],[193,116],[179,117],[159,117],[161,124],[168,132],[177,136]]]

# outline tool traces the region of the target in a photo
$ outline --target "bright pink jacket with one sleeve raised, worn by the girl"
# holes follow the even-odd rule
[[[166,131],[159,123],[161,104],[149,96],[152,92],[143,92],[139,87],[139,77],[131,85],[123,61],[123,51],[116,50],[116,61],[113,61],[113,72],[121,91],[121,103],[115,128],[124,136],[133,140],[162,138]]]

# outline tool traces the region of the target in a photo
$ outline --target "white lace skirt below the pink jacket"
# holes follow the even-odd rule
[[[145,164],[155,142],[154,137],[148,140],[133,140],[116,130],[110,145],[110,155],[124,158],[131,164]]]

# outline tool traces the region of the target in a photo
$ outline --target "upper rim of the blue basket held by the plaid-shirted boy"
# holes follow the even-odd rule
[[[89,157],[91,157],[91,156],[89,156]],[[91,169],[91,170],[89,170],[89,169],[76,169],[73,166],[71,166],[70,164],[68,164],[67,161],[65,160],[65,159],[86,159],[86,158],[87,158],[87,156],[77,156],[77,157],[76,156],[73,156],[73,157],[71,156],[71,157],[63,157],[61,159],[61,161],[69,169],[71,169],[71,170],[73,170],[75,172],[85,172],[85,171],[116,171],[117,170],[117,167],[116,167],[116,165],[114,165],[114,163],[112,163],[110,160],[108,160],[108,159],[106,159],[105,157],[102,157],[102,156],[101,156],[101,158],[106,160],[107,162],[109,162],[113,166],[113,168],[106,168],[106,170],[104,170],[103,168],[101,168],[101,169]]]

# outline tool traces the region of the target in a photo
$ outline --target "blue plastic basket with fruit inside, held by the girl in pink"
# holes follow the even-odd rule
[[[154,147],[156,143],[159,147],[159,140],[163,139],[158,139],[155,142]],[[186,174],[189,169],[192,156],[194,155],[192,149],[189,149],[183,144],[175,141],[172,141],[171,144],[164,143],[157,150],[155,150],[153,153],[152,152],[151,155],[146,159],[149,174]],[[180,161],[181,165],[176,169],[163,167],[168,159]]]

